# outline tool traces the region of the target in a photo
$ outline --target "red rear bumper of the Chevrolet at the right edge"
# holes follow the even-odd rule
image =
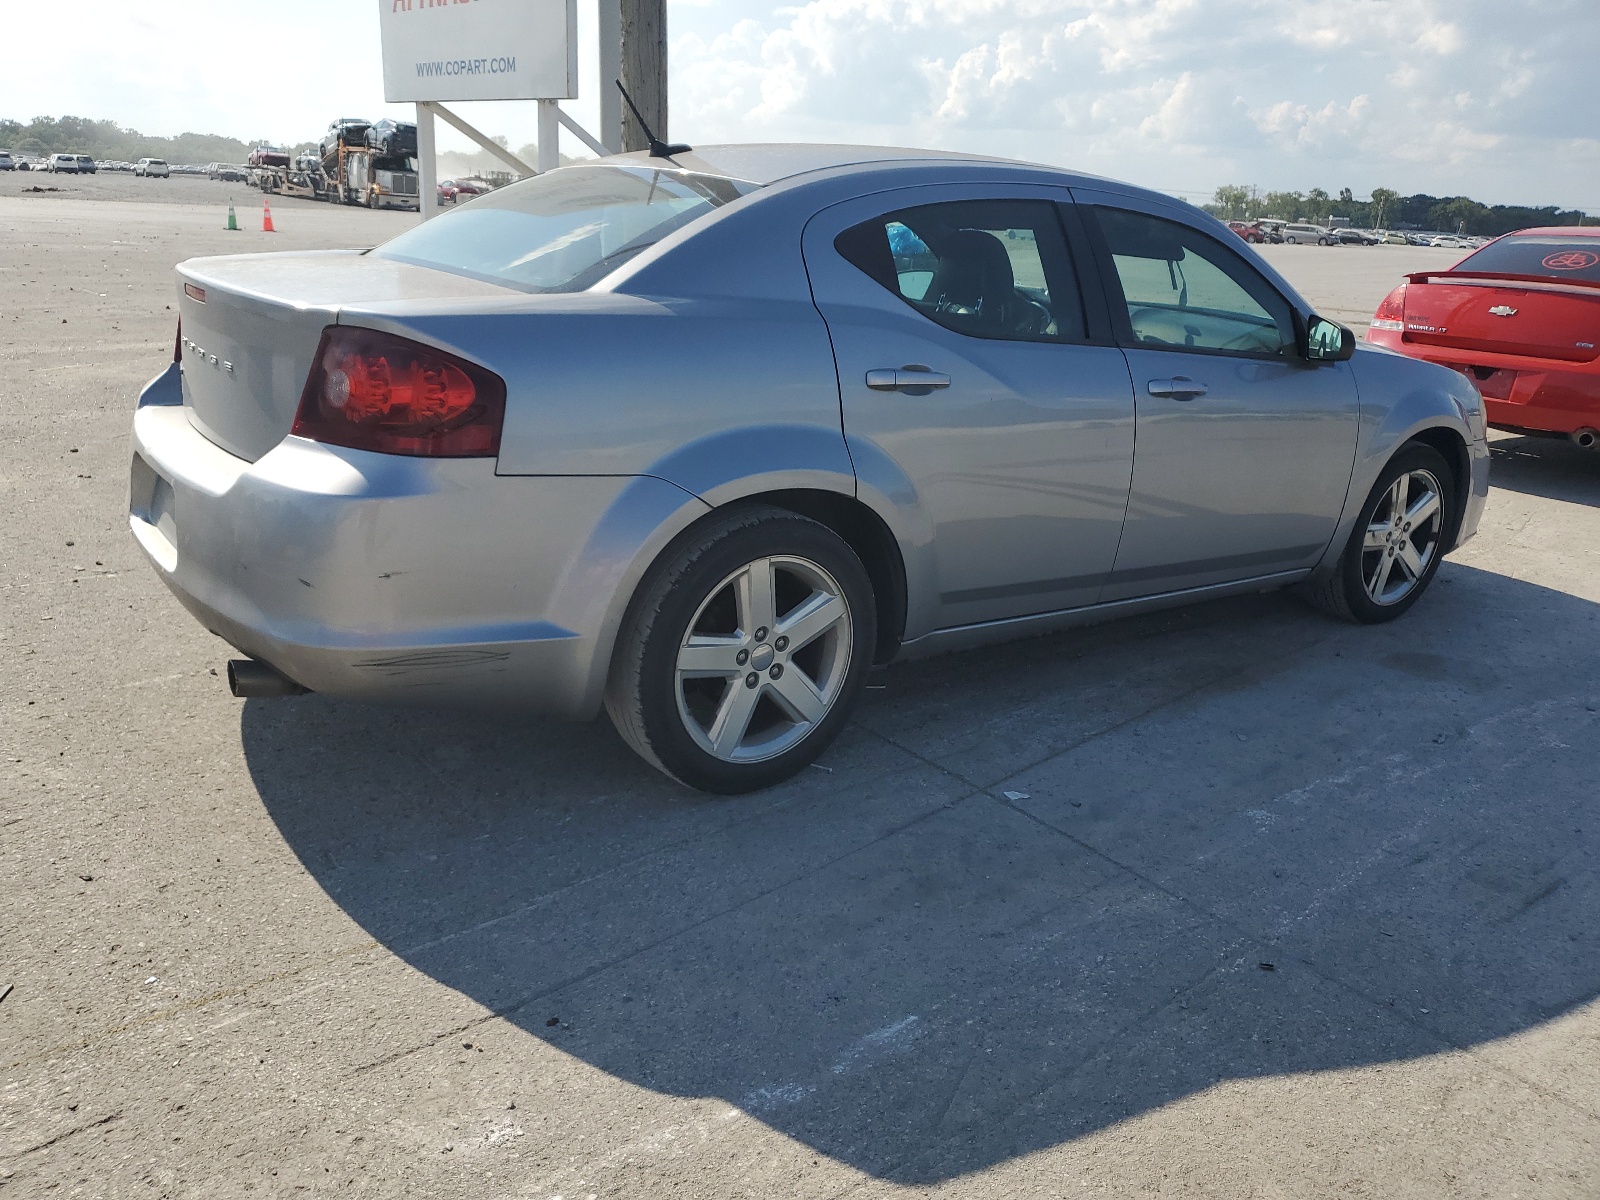
[[[1368,330],[1366,341],[1466,374],[1483,397],[1491,426],[1552,434],[1600,426],[1600,365],[1566,370],[1507,354],[1424,347],[1394,330]]]

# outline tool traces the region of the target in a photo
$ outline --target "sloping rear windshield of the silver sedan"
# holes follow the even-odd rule
[[[477,197],[373,253],[523,291],[582,291],[755,184],[653,166],[568,166]]]

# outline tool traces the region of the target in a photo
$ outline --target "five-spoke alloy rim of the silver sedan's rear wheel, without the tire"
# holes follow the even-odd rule
[[[723,762],[778,757],[834,709],[853,640],[850,602],[822,566],[797,555],[746,563],[712,589],[678,645],[683,728]]]

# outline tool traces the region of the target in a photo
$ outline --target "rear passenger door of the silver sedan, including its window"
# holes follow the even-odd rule
[[[1093,603],[1117,555],[1128,368],[1090,339],[1066,197],[1032,190],[904,189],[805,232],[858,475],[931,533],[907,637]]]

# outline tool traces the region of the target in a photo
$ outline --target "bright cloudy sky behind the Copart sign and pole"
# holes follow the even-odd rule
[[[299,142],[406,115],[382,104],[381,3],[6,3],[0,117]],[[565,107],[594,128],[595,0],[578,13]],[[669,0],[667,21],[680,141],[974,150],[1190,200],[1392,187],[1600,214],[1600,0]],[[533,104],[459,112],[533,141]],[[440,149],[469,144],[442,130]]]

